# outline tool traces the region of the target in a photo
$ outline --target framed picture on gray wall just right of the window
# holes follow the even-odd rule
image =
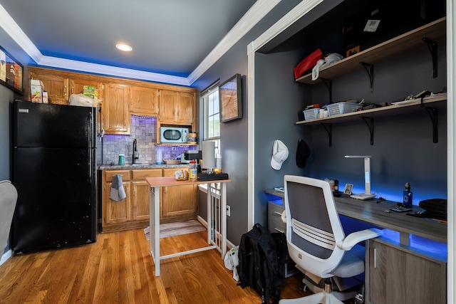
[[[219,95],[222,122],[242,118],[241,74],[236,74],[222,83]]]

